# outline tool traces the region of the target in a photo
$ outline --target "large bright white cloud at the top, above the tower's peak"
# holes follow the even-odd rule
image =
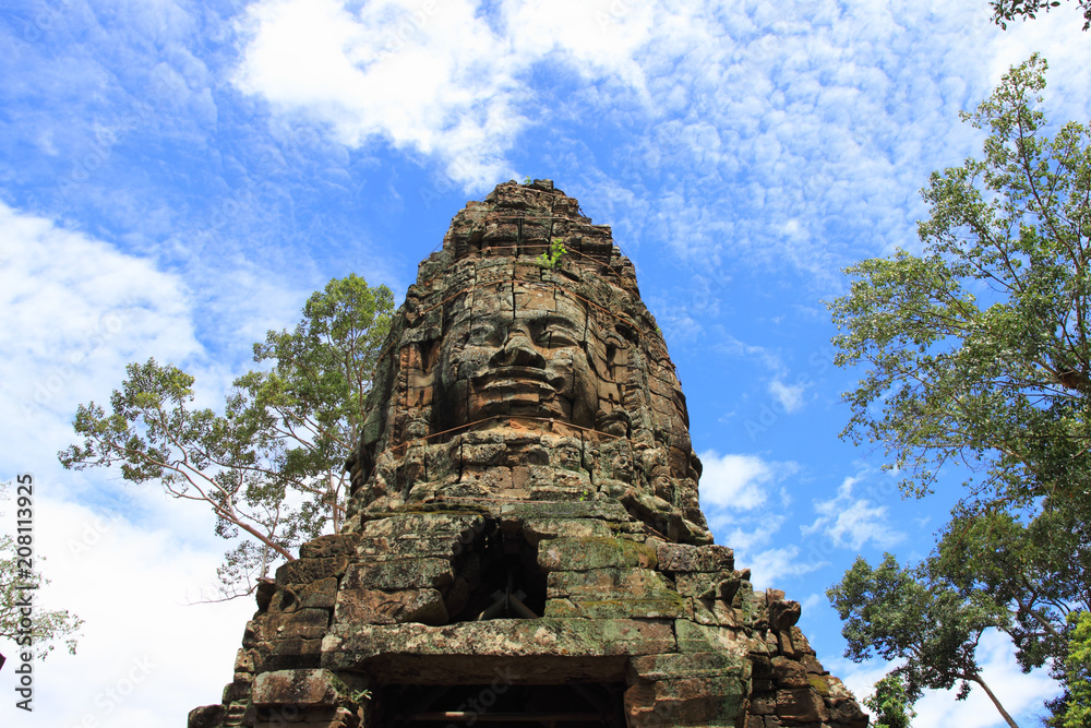
[[[244,92],[328,123],[349,146],[372,136],[435,155],[482,188],[516,172],[505,153],[540,112],[521,81],[535,64],[571,63],[639,94],[633,60],[651,11],[609,0],[507,3],[489,16],[468,0],[266,0],[247,11],[236,75]],[[604,29],[606,28],[606,29]]]

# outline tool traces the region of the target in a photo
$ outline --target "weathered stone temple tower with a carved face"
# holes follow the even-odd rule
[[[712,544],[633,265],[549,180],[420,264],[348,466],[345,528],[262,585],[190,728],[867,725]]]

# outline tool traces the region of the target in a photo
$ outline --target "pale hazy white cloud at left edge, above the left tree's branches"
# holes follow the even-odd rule
[[[0,437],[26,443],[32,427],[108,395],[128,361],[181,362],[202,353],[185,286],[147,260],[0,203],[0,346],[7,375]],[[23,452],[26,452],[23,449]]]

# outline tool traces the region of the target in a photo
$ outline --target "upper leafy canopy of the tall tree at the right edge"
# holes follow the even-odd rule
[[[985,157],[932,175],[924,254],[847,268],[829,305],[836,362],[867,366],[843,434],[883,443],[907,492],[957,462],[1017,505],[1091,493],[1091,148],[1076,122],[1042,133],[1045,68],[1035,55],[963,114],[991,131]]]

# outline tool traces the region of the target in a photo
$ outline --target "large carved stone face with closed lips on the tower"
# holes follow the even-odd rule
[[[554,287],[503,288],[475,291],[452,313],[434,382],[441,428],[495,416],[594,428],[600,379],[589,345],[598,337],[588,335],[594,318]]]

